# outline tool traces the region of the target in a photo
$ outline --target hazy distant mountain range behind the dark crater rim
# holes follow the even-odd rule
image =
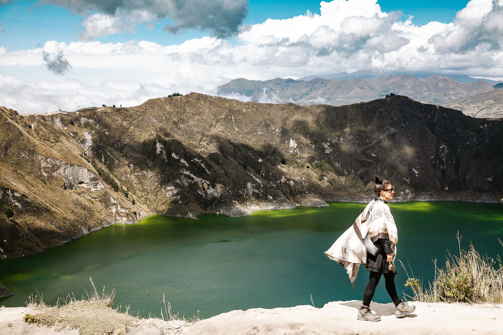
[[[333,76],[342,76],[341,73]],[[465,76],[467,77],[467,76]],[[305,77],[304,79],[309,79]],[[473,79],[473,78],[472,78]],[[487,80],[458,82],[450,77],[430,76],[417,78],[410,75],[387,75],[374,79],[362,77],[350,79],[294,80],[291,78],[276,78],[259,81],[239,78],[218,87],[217,94],[232,97],[242,101],[257,101],[269,103],[294,102],[301,105],[330,104],[340,106],[382,98],[389,93],[406,95],[414,100],[451,105],[456,101],[456,108],[470,116],[501,117],[498,109],[499,100],[490,100],[490,96],[475,97],[477,94],[493,91],[501,86]],[[499,96],[499,93],[493,94]],[[464,98],[470,96],[469,100]],[[475,108],[468,101],[480,101]],[[483,101],[483,102],[482,102]],[[483,109],[483,112],[481,110]]]

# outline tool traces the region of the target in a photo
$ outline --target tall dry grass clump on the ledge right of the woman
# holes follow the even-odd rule
[[[408,297],[427,302],[503,302],[501,258],[496,256],[496,262],[493,258],[480,256],[471,243],[467,251],[461,250],[459,232],[456,238],[459,256],[448,252],[443,268],[439,268],[437,260],[434,260],[435,279],[433,283],[428,282],[428,288],[424,288],[422,281],[412,272],[409,276],[400,261],[407,275],[405,287],[412,289],[412,296]],[[503,246],[503,242],[498,241]]]

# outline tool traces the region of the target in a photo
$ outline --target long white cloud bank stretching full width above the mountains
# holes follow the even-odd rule
[[[382,12],[375,0],[321,2],[320,15],[242,27],[235,45],[203,37],[168,46],[48,41],[30,50],[0,47],[0,105],[24,113],[134,105],[173,92],[211,94],[238,77],[267,80],[364,69],[503,77],[502,1],[472,0],[453,23],[423,26],[410,17],[401,21],[400,13]],[[94,29],[111,34],[122,29],[117,18],[139,22],[148,13],[138,10],[128,19],[98,14],[108,23],[97,20]],[[44,52],[61,52],[71,70],[64,77],[48,72]]]

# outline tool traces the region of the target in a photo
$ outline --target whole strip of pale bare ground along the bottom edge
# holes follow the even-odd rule
[[[136,319],[124,333],[144,334],[498,334],[501,333],[503,304],[414,302],[416,310],[396,318],[391,303],[372,303],[380,322],[359,321],[361,301],[329,302],[322,308],[295,306],[233,310],[194,323]],[[84,311],[85,312],[85,311]],[[36,309],[0,310],[0,334],[78,334],[79,330],[49,327],[23,320]],[[112,320],[111,320],[112,322]],[[83,328],[82,329],[88,329]],[[80,333],[87,333],[80,329]],[[113,333],[121,333],[117,329]]]

